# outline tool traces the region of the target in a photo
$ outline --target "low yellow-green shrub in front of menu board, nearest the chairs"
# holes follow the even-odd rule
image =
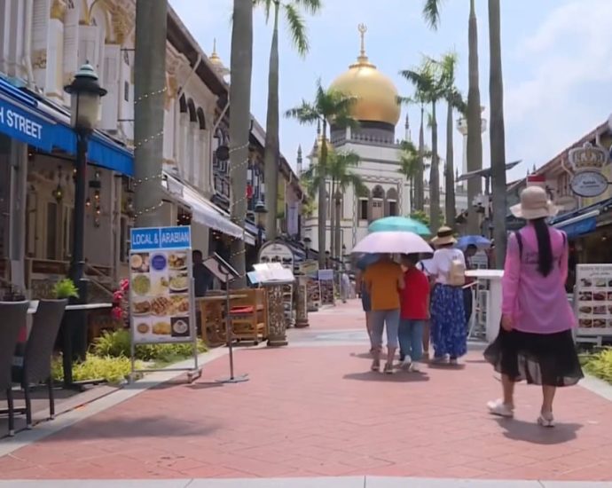
[[[136,369],[142,369],[138,361]],[[110,383],[118,383],[125,380],[131,373],[131,362],[129,358],[98,357],[88,354],[82,363],[75,363],[72,368],[73,380],[82,382],[86,380],[105,380]],[[54,358],[51,363],[51,374],[54,380],[64,379],[61,356]]]

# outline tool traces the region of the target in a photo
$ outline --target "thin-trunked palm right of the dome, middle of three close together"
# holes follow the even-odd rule
[[[429,169],[429,221],[432,229],[440,226],[440,161],[438,159],[438,129],[436,120],[437,102],[444,95],[443,72],[433,59],[423,59],[416,70],[407,69],[400,74],[418,87],[417,90],[431,104],[431,168]]]

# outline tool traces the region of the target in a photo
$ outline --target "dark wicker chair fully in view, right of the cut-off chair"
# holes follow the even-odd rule
[[[49,390],[49,417],[55,418],[55,398],[51,377],[53,345],[64,317],[67,300],[41,300],[34,314],[32,330],[27,337],[23,364],[13,368],[13,382],[19,382],[26,397],[26,427],[32,429],[30,385],[47,384]]]

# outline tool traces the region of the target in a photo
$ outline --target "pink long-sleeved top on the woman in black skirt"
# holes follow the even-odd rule
[[[535,334],[553,334],[576,327],[577,320],[565,292],[568,278],[568,244],[561,231],[549,228],[553,270],[537,272],[537,238],[531,225],[522,228],[522,256],[516,235],[508,239],[502,279],[502,313],[513,318],[514,328]],[[565,244],[564,244],[565,241]]]

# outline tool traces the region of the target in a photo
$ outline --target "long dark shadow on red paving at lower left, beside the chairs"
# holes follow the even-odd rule
[[[180,421],[167,416],[88,419],[75,424],[58,435],[48,437],[52,442],[75,440],[133,439],[137,437],[202,437],[218,429],[217,425],[198,421]],[[40,442],[44,443],[47,439]]]

